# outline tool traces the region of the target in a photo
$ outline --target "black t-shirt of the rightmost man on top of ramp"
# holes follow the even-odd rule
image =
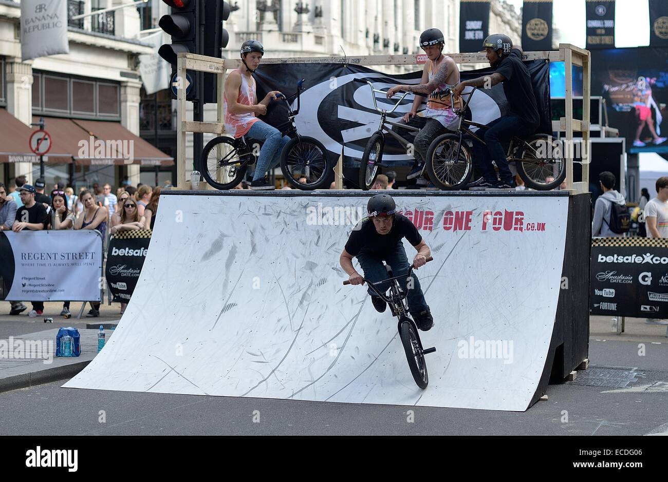
[[[531,84],[531,75],[526,65],[522,63],[522,52],[514,49],[508,57],[504,57],[496,67],[496,71],[506,77],[503,90],[508,99],[511,113],[514,113],[524,122],[538,127],[540,116],[534,87]]]

